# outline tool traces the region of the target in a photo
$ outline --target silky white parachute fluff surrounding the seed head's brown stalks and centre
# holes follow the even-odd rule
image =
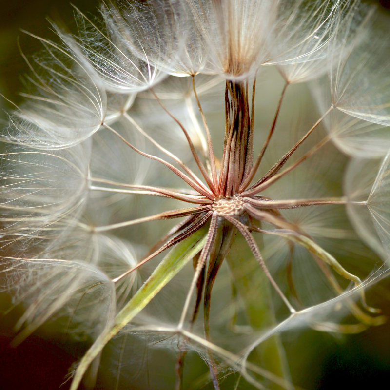
[[[119,282],[117,277],[147,256],[173,226],[164,219],[133,222],[188,206],[161,188],[199,199],[196,184],[190,188],[172,166],[200,176],[187,136],[206,172],[213,169],[207,161],[209,144],[217,145],[215,170],[220,169],[228,123],[224,110],[235,108],[234,99],[225,98],[229,88],[249,85],[257,74],[254,153],[261,150],[270,127],[274,136],[254,181],[316,120],[320,123],[286,164],[307,158],[308,165],[299,165],[261,195],[279,200],[338,196],[347,204],[346,213],[342,205],[330,205],[331,210],[316,205],[282,210],[282,217],[321,245],[328,261],[340,257],[346,268],[366,265],[371,270],[377,257],[364,243],[386,261],[390,88],[389,65],[383,59],[389,46],[384,40],[369,47],[376,33],[369,23],[371,11],[363,15],[367,9],[358,1],[341,0],[119,1],[102,5],[102,21],[76,10],[77,36],[55,27],[61,43],[40,39],[42,54],[28,60],[31,89],[26,102],[11,114],[1,136],[7,148],[0,156],[1,262],[8,276],[4,288],[12,291],[15,305],[25,307],[16,324],[16,341],[50,322],[58,332],[89,342],[113,326],[116,314],[161,256]],[[310,97],[305,83],[318,78],[322,80],[312,84]],[[248,91],[245,98],[251,101]],[[298,99],[300,94],[305,98]],[[369,160],[350,162],[342,190],[343,154]],[[326,272],[320,273],[318,256],[286,239],[288,229],[275,229],[268,222],[261,229],[265,238],[257,243],[264,244],[266,264],[278,286],[291,293],[297,312],[279,321],[286,318],[286,308],[259,279],[253,295],[257,299],[260,290],[269,293],[275,316],[266,329],[255,327],[246,302],[231,287],[236,275],[223,264],[213,290],[212,341],[207,340],[199,323],[178,326],[194,275],[189,266],[105,349],[104,367],[117,366],[113,356],[119,365],[138,367],[141,348],[167,356],[172,366],[177,350],[194,351],[199,363],[211,365],[214,356],[220,374],[239,372],[259,388],[264,385],[261,376],[288,388],[248,359],[265,340],[302,327],[354,332],[383,322],[380,316],[362,313],[364,302],[355,303],[373,280],[351,292],[345,280],[334,288]],[[249,260],[250,249],[245,250]],[[243,266],[244,277],[260,272],[265,280],[255,266]],[[348,312],[357,324],[342,321]],[[131,343],[126,343],[127,335]],[[129,386],[133,373],[116,371],[115,386]],[[154,370],[152,383],[158,383],[159,375]]]

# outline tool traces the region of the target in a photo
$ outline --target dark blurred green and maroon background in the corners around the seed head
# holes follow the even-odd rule
[[[370,1],[389,15],[390,1]],[[98,14],[97,0],[73,0],[84,13]],[[27,65],[20,55],[31,55],[40,49],[36,39],[24,34],[27,30],[41,37],[50,37],[50,23],[55,20],[73,31],[73,8],[68,0],[0,0],[0,124],[6,123],[5,111],[12,109],[7,101],[19,103],[18,92],[23,89],[20,75]],[[19,48],[20,47],[20,48]],[[390,61],[390,58],[389,58]],[[7,308],[9,299],[0,296],[0,309]],[[379,307],[390,318],[390,281],[384,280],[368,292],[371,306]],[[18,309],[13,312],[16,317]],[[1,314],[0,314],[1,315]],[[390,322],[390,321],[389,321]],[[63,345],[44,334],[30,337],[17,348],[11,348],[12,316],[0,317],[0,389],[55,390],[63,383],[69,367],[83,350],[81,345]],[[305,333],[305,342],[318,342],[318,332]],[[390,377],[389,323],[350,336],[321,335],[321,344],[311,351],[297,347],[292,370],[306,371],[301,383],[315,389],[373,389],[382,388]],[[299,340],[296,342],[300,346]],[[68,388],[68,384],[61,389]]]

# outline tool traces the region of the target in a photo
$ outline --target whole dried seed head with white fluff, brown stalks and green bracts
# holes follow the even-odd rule
[[[378,59],[389,40],[373,46],[373,12],[358,1],[120,1],[101,14],[99,24],[77,10],[78,36],[55,27],[61,44],[40,39],[35,92],[1,138],[3,264],[26,305],[15,342],[48,321],[89,340],[73,390],[89,367],[94,386],[101,356],[113,365],[107,351],[119,366],[134,355],[116,375],[126,388],[120,372],[135,375],[150,340],[177,389],[192,351],[215,389],[231,388],[229,374],[291,389],[280,332],[384,322],[364,289],[386,266],[362,282],[338,257],[373,257],[346,206],[389,258],[390,68]],[[291,84],[308,81],[320,113],[308,99],[294,125]],[[384,160],[352,160],[341,195],[331,141]]]

